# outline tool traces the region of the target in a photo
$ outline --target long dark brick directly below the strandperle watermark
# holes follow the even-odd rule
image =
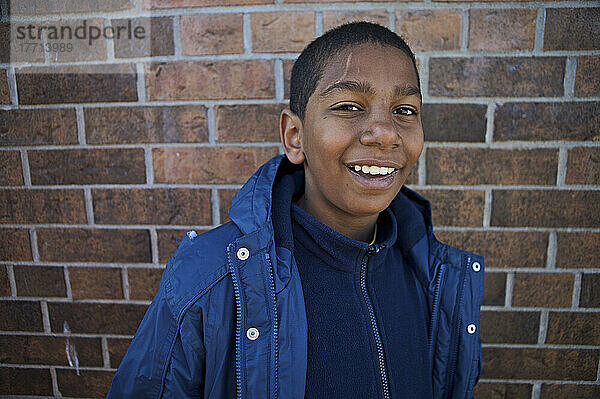
[[[138,101],[135,65],[19,69],[20,104]]]

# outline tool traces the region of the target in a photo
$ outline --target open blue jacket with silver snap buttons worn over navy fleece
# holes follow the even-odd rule
[[[296,261],[278,246],[262,165],[232,200],[230,222],[189,232],[166,265],[109,398],[304,397],[307,321]],[[483,259],[438,242],[429,203],[403,187],[390,204],[403,255],[426,287],[435,398],[471,398],[481,372]],[[403,244],[411,242],[410,245]]]

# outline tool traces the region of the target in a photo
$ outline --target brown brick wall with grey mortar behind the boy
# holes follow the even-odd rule
[[[0,395],[106,393],[183,234],[281,152],[298,52],[359,18],[417,52],[410,185],[441,240],[486,257],[477,396],[600,396],[597,2],[30,3],[35,24],[135,18],[153,40],[14,63],[0,40]]]

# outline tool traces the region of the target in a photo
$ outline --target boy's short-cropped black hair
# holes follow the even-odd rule
[[[419,71],[415,62],[415,54],[408,44],[391,30],[371,22],[351,22],[327,31],[323,36],[313,40],[300,53],[292,67],[290,79],[290,109],[301,120],[304,120],[306,104],[323,77],[325,65],[334,56],[347,47],[374,43],[399,48],[412,60],[417,82]],[[419,91],[421,84],[419,84]]]

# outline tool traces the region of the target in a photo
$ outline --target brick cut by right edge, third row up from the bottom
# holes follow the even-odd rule
[[[600,313],[550,312],[546,343],[600,345]]]

